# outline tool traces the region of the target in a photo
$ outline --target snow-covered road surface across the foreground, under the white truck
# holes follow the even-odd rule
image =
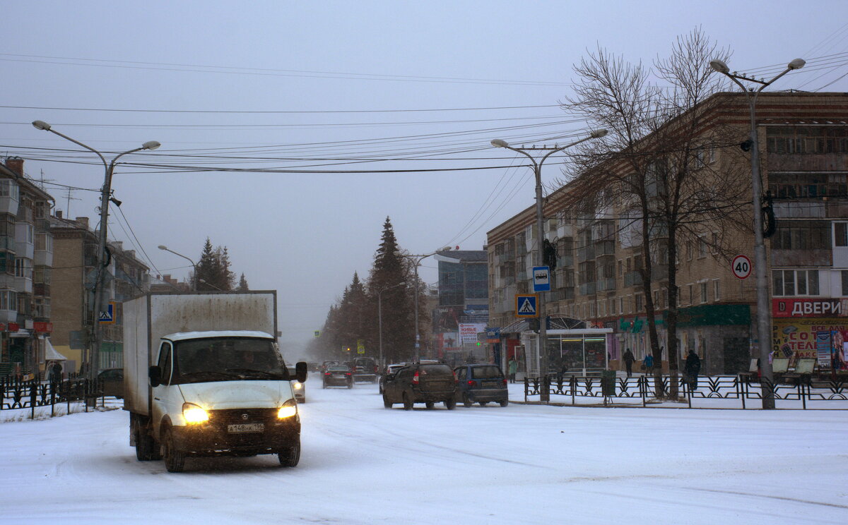
[[[848,522],[848,412],[404,412],[376,385],[307,389],[294,469],[166,473],[136,461],[121,410],[0,423],[0,523]]]

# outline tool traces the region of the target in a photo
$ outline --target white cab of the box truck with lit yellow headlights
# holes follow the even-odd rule
[[[297,379],[305,381],[306,364],[298,363],[296,369]],[[187,456],[277,454],[283,466],[297,465],[295,378],[270,334],[233,330],[165,335],[148,376],[151,448],[159,445],[169,472],[180,472]]]

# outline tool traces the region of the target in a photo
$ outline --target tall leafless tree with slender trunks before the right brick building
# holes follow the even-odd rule
[[[648,318],[651,353],[661,362],[653,291],[667,294],[667,346],[672,375],[678,373],[677,262],[681,243],[721,246],[706,232],[739,228],[739,176],[726,163],[712,162],[717,148],[737,146],[734,131],[709,124],[721,97],[710,60],[726,58],[699,28],[678,37],[668,58],[654,67],[630,64],[602,48],[575,66],[577,86],[563,107],[609,130],[603,146],[584,152],[572,181],[583,212],[615,210],[620,239],[639,250],[637,261]],[[602,181],[599,184],[599,179]],[[743,179],[744,180],[744,179]],[[744,194],[742,194],[744,195]],[[659,285],[667,279],[665,290]],[[656,395],[663,395],[656,368]],[[669,394],[678,395],[672,381]]]

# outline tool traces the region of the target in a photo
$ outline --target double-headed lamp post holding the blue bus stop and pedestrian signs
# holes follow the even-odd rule
[[[561,152],[562,150],[576,146],[581,142],[589,141],[591,139],[597,139],[606,135],[606,130],[594,130],[589,136],[580,139],[579,141],[574,141],[570,144],[566,144],[565,146],[554,146],[554,147],[512,147],[507,144],[505,141],[501,141],[499,139],[494,139],[492,141],[492,146],[495,147],[504,147],[508,150],[512,150],[513,152],[518,152],[529,158],[533,163],[533,174],[536,175],[536,228],[538,230],[538,240],[536,241],[536,253],[538,257],[538,265],[544,264],[544,215],[542,213],[542,164],[548,157],[553,155],[555,152]],[[541,159],[538,161],[533,157],[528,151],[542,151],[547,152],[544,154]],[[538,315],[538,368],[539,374],[541,377],[545,378],[548,375],[548,327],[547,327],[547,318],[545,318],[544,312],[544,292],[538,295],[538,302],[536,305],[536,313]],[[550,401],[550,392],[547,388],[542,389],[541,397],[539,401],[548,402]]]

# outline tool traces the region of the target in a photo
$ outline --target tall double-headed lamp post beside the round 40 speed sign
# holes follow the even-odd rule
[[[750,112],[750,181],[751,181],[751,202],[754,207],[754,274],[756,275],[756,330],[757,339],[760,341],[760,387],[762,389],[762,407],[774,408],[774,390],[772,363],[768,361],[770,344],[768,338],[771,337],[771,319],[770,308],[768,307],[768,279],[767,279],[767,262],[766,262],[766,245],[765,235],[762,231],[762,180],[760,179],[760,141],[756,131],[756,98],[760,92],[771,85],[775,80],[778,80],[783,75],[795,69],[804,67],[804,60],[795,58],[792,62],[786,65],[786,69],[775,76],[772,80],[757,80],[737,75],[735,72],[730,73],[728,64],[722,60],[711,60],[710,67],[718,73],[725,75],[728,79],[742,89],[745,93],[745,99],[748,101],[748,109]],[[746,88],[739,80],[753,82],[759,84],[756,90],[754,88]]]

